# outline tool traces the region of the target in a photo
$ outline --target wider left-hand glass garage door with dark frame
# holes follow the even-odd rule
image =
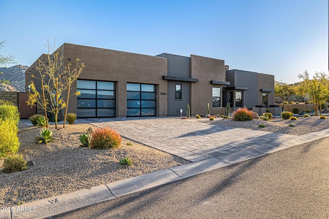
[[[114,82],[77,80],[78,117],[115,116]]]

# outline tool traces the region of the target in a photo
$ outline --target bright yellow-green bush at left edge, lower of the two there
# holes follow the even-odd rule
[[[0,158],[19,150],[20,142],[17,137],[18,127],[11,120],[0,118]]]

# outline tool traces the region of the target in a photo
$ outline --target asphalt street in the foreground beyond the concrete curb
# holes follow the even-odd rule
[[[51,218],[329,218],[329,137]]]

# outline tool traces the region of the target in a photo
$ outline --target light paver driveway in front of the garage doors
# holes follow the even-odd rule
[[[273,152],[289,147],[284,142],[295,141],[293,138],[296,138],[293,135],[229,128],[178,118],[95,118],[88,119],[88,123],[98,127],[110,126],[126,138],[191,162],[245,149]]]

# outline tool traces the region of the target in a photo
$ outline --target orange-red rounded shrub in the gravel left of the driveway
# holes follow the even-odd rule
[[[108,149],[119,147],[122,141],[121,135],[108,126],[97,128],[93,131],[91,148]]]

